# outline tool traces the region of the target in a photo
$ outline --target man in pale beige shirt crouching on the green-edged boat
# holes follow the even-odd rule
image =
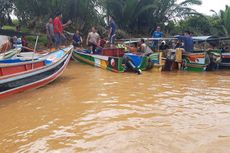
[[[92,27],[92,31],[89,32],[87,39],[86,39],[86,45],[90,47],[93,54],[95,54],[95,50],[97,48],[97,44],[99,41],[99,34],[97,33],[97,30],[95,27]]]

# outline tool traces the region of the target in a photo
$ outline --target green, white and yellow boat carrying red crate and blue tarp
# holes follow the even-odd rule
[[[149,58],[145,56],[138,56],[131,53],[124,53],[124,51],[113,52],[113,49],[105,49],[101,55],[90,54],[90,51],[74,50],[72,58],[76,61],[90,64],[113,72],[129,71],[130,67],[135,67],[140,70],[148,70],[151,68],[149,65]],[[134,68],[134,69],[135,69]],[[135,70],[134,70],[135,71]]]

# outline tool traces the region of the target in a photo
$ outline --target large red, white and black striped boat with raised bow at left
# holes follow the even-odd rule
[[[66,47],[32,60],[0,61],[0,99],[55,80],[65,70],[72,48]]]

